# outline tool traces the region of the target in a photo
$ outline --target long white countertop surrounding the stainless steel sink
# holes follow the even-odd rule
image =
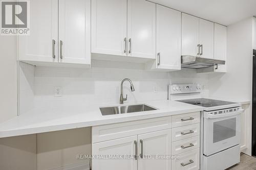
[[[127,105],[133,104],[147,104],[158,110],[104,116],[101,115],[99,107],[117,106],[117,104],[90,106],[79,109],[62,108],[51,111],[31,110],[26,114],[16,116],[7,122],[1,123],[0,138],[203,111],[203,107],[200,106],[168,100],[129,103]]]

